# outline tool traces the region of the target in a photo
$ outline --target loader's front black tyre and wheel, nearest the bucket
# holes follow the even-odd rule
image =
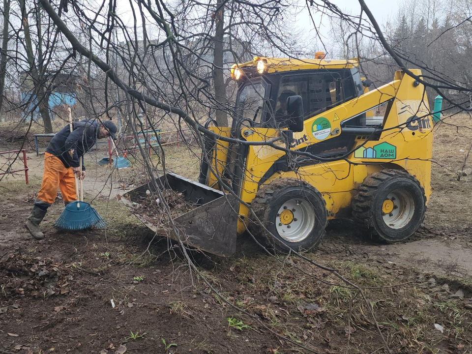
[[[285,220],[284,225],[277,222],[283,221],[280,209],[296,202],[300,206],[298,210],[295,207],[288,209],[292,214],[292,221]],[[276,179],[259,189],[251,206],[264,227],[252,217],[250,230],[270,251],[288,253],[292,248],[297,252],[304,252],[318,245],[323,239],[327,225],[326,203],[318,190],[303,181],[295,178]],[[285,210],[282,210],[282,214],[284,213]],[[300,220],[297,220],[297,215]],[[312,215],[313,219],[309,215]],[[288,234],[283,234],[285,231],[295,235],[289,237]],[[297,236],[300,239],[297,239]]]

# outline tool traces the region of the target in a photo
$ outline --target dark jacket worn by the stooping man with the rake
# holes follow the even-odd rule
[[[79,167],[79,157],[84,156],[95,145],[99,128],[100,125],[96,121],[81,120],[72,123],[71,133],[67,124],[51,139],[46,152],[58,157],[66,168]],[[72,157],[69,154],[71,149],[74,150]],[[82,170],[85,171],[83,160]]]

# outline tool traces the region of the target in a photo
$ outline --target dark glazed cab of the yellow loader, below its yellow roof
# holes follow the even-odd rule
[[[306,120],[361,94],[363,86],[357,67],[276,71],[264,75],[248,71],[239,81],[232,130],[237,134],[241,126],[287,128],[287,99],[291,96],[301,97]],[[365,125],[365,114],[350,121],[353,124]]]

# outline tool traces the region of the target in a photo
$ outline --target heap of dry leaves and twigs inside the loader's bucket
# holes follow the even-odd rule
[[[176,193],[169,189],[163,190],[161,193],[171,210],[172,219],[198,207],[196,204],[187,202],[182,193]],[[136,214],[139,214],[142,221],[148,222],[158,229],[170,225],[171,220],[164,208],[164,203],[157,194],[149,194],[141,203],[135,204],[133,209]]]

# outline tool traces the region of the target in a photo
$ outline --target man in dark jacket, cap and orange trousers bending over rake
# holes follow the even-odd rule
[[[82,120],[72,123],[72,132],[67,124],[51,139],[44,154],[41,189],[25,224],[33,238],[44,238],[39,224],[56,200],[58,188],[65,205],[77,201],[74,174],[78,179],[85,177],[85,166],[82,164],[80,169],[79,158],[95,145],[97,139],[115,139],[116,133],[117,127],[110,120],[101,123]]]

